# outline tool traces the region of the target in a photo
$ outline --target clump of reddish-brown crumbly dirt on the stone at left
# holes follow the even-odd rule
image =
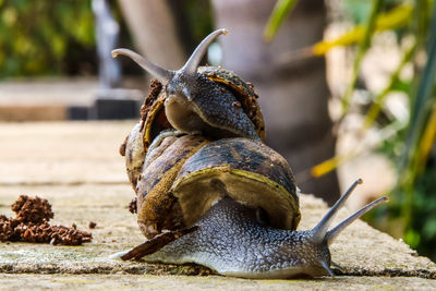
[[[77,230],[74,223],[71,228],[50,226],[48,221],[53,218],[51,205],[38,196],[21,195],[11,209],[15,213],[14,218],[0,216],[1,242],[80,245],[93,239],[89,232]]]

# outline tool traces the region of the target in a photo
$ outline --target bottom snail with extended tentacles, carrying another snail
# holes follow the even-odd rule
[[[137,182],[138,225],[148,239],[122,259],[196,263],[225,276],[291,278],[334,275],[328,246],[382,197],[328,230],[358,180],[312,230],[300,220],[284,159],[247,138],[169,136]]]

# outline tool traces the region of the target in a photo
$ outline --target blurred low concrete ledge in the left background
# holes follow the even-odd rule
[[[99,88],[96,77],[10,80],[0,83],[0,121],[125,119],[120,116],[122,102],[119,111],[110,112],[109,117],[107,112],[101,114],[107,107],[95,104],[99,97],[111,97],[113,101],[123,98],[141,106],[142,92],[146,92],[148,81],[128,77],[123,80],[122,87],[128,90],[112,90],[108,96]],[[134,116],[124,112],[128,113],[129,117]]]

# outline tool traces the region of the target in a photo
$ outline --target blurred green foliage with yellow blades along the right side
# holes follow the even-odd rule
[[[353,102],[361,61],[373,45],[377,22],[382,23],[384,19],[379,31],[393,33],[398,47],[403,50],[386,87],[379,93],[366,89],[372,100],[368,110],[362,108],[365,122],[360,134],[365,134],[370,128],[378,131],[380,136],[385,130],[393,132],[385,137],[378,150],[391,159],[398,171],[397,185],[389,194],[390,203],[377,207],[365,219],[402,238],[421,255],[436,262],[436,1],[343,0],[341,4],[343,17],[351,20],[355,27],[336,40],[318,43],[312,53],[324,54],[337,46],[355,47],[352,81],[342,98],[343,116],[349,113],[348,105]],[[271,17],[275,16],[278,15]],[[413,66],[412,80],[401,78],[407,64]],[[401,92],[409,98],[408,121],[396,120],[388,113],[385,101],[393,92]],[[318,177],[331,171],[354,156],[350,153],[332,157],[314,166],[312,174]]]

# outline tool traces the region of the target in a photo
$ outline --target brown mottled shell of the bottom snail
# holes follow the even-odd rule
[[[275,228],[300,221],[288,162],[261,142],[170,136],[149,155],[136,185],[137,221],[148,239],[191,227],[223,196],[258,208]]]

